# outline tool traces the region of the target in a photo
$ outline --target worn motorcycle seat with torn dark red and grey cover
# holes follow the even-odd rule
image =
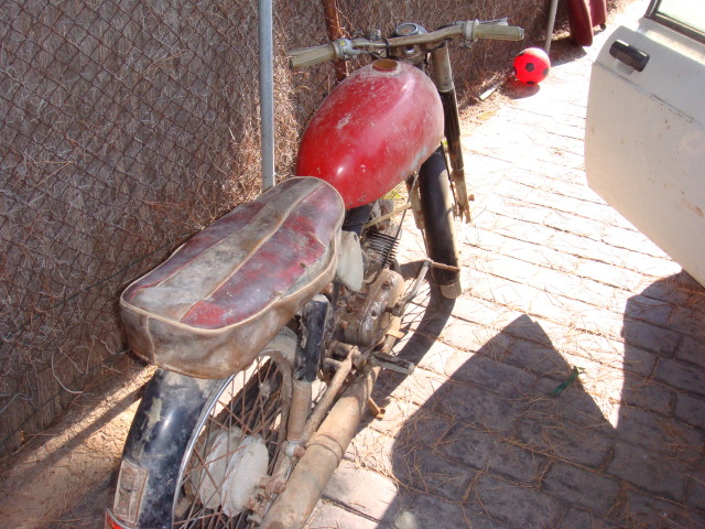
[[[338,192],[313,177],[236,207],[122,293],[132,349],[199,378],[246,368],[333,280],[344,215]]]

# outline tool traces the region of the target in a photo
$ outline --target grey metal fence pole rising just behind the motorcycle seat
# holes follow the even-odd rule
[[[259,2],[262,191],[274,185],[274,43],[272,0]]]

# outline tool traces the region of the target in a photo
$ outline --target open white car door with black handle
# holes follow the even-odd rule
[[[593,65],[588,185],[705,285],[705,2],[653,0]]]

